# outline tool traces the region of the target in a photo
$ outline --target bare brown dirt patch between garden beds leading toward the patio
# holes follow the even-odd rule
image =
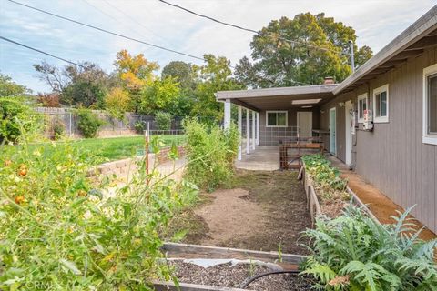
[[[306,254],[298,242],[310,227],[303,187],[295,172],[239,171],[227,189],[174,219],[184,243]]]

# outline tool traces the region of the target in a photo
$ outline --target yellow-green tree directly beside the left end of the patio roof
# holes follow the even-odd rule
[[[230,61],[224,56],[204,55],[207,64],[198,69],[199,83],[195,90],[196,102],[192,115],[201,116],[206,122],[217,123],[223,118],[223,105],[215,93],[223,90],[242,89],[231,76]]]

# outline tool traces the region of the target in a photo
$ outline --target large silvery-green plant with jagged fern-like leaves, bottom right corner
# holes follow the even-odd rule
[[[411,209],[381,225],[361,208],[349,206],[342,216],[320,216],[310,237],[310,258],[303,274],[319,280],[320,290],[437,290],[434,249],[408,218]]]

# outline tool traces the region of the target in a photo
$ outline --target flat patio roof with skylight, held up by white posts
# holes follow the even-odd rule
[[[305,105],[320,105],[326,99],[330,99],[334,96],[332,92],[336,87],[337,84],[330,84],[219,91],[216,93],[216,97],[218,101],[229,99],[233,104],[241,105],[255,111],[274,110]],[[293,104],[293,101],[299,104]]]

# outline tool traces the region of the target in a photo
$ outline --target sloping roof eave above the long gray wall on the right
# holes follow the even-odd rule
[[[427,46],[437,45],[437,5],[405,29],[378,54],[361,65],[355,73],[334,90],[337,95],[403,64],[408,58],[421,55]]]

